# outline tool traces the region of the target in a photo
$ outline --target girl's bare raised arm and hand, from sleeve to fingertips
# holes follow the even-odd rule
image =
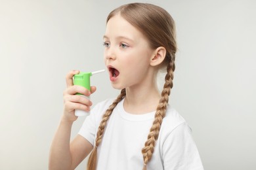
[[[71,71],[66,76],[68,88],[64,91],[64,114],[51,145],[49,169],[75,169],[93,149],[93,145],[80,135],[77,135],[70,143],[72,124],[77,120],[74,110],[89,111],[92,105],[91,101],[75,95],[75,93],[83,93],[88,96],[96,90],[95,87],[91,87],[91,92],[89,92],[81,86],[74,86],[73,76],[77,73],[79,71]]]

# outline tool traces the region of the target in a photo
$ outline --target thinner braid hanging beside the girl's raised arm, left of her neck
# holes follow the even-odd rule
[[[110,115],[112,114],[116,105],[119,103],[119,101],[123,99],[123,97],[125,97],[125,95],[125,89],[121,90],[121,93],[117,96],[116,100],[112,103],[112,105],[110,105],[108,110],[106,110],[105,114],[102,116],[102,120],[100,122],[100,126],[98,126],[98,132],[95,139],[95,147],[93,148],[93,151],[91,152],[91,155],[88,160],[87,170],[96,170],[97,148],[100,142],[102,141],[106,123],[108,121],[108,118],[110,118]]]

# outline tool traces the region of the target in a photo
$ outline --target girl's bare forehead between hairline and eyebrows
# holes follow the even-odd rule
[[[127,20],[125,20],[120,14],[116,14],[108,20],[105,35],[110,38],[118,36],[127,37],[133,40],[144,38],[139,29],[127,22]]]

